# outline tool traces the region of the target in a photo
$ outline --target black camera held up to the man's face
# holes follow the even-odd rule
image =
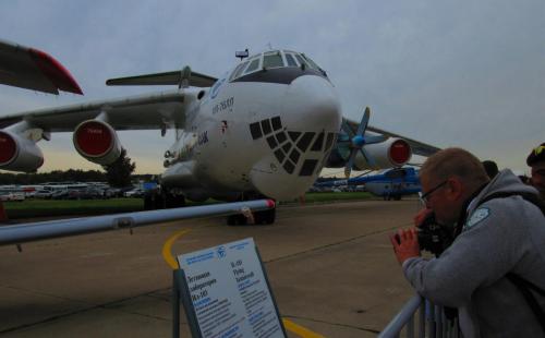
[[[427,214],[426,218],[417,226],[417,229],[420,249],[429,251],[437,257],[455,240],[453,229],[438,225],[434,213]]]

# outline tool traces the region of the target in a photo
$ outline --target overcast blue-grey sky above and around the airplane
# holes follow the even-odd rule
[[[439,147],[460,146],[528,172],[545,141],[545,1],[10,1],[0,38],[41,49],[85,96],[0,85],[0,114],[169,87],[107,87],[110,77],[190,65],[218,76],[234,51],[289,48],[325,69],[343,114]],[[138,173],[162,171],[172,133],[120,132]],[[99,169],[71,134],[41,141],[52,169]]]

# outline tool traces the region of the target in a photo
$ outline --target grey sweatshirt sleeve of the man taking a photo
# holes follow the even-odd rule
[[[475,289],[494,283],[514,266],[524,252],[524,229],[519,225],[524,220],[501,204],[491,201],[472,213],[464,231],[438,258],[403,263],[405,278],[420,294],[461,306]]]

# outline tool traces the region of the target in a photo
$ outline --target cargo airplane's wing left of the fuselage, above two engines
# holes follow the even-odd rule
[[[107,113],[107,122],[117,130],[156,130],[175,121],[185,123],[185,107],[196,99],[190,90],[97,100],[64,107],[19,112],[0,117],[0,128],[25,120],[34,128],[49,132],[70,132],[83,121]]]

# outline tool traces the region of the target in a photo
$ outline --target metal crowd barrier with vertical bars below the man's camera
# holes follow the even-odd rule
[[[415,321],[417,321],[417,327],[415,327]],[[420,294],[415,294],[378,337],[459,338],[461,334],[457,318],[448,319],[443,306],[434,305]]]

